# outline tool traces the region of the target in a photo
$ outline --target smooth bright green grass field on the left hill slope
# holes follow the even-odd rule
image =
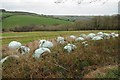
[[[47,18],[42,16],[32,15],[14,15],[8,17],[2,21],[3,28],[14,28],[18,26],[30,26],[30,25],[56,25],[56,24],[69,24],[70,21],[58,20],[53,18]]]

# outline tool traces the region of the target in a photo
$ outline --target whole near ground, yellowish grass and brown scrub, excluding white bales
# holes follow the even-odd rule
[[[3,33],[2,35],[2,59],[9,55],[17,55],[19,58],[10,57],[2,67],[3,78],[118,78],[118,37],[110,37],[101,40],[75,40],[70,35],[79,37],[80,34],[95,33],[101,31],[56,31],[56,32],[19,32]],[[106,33],[118,33],[118,31],[102,31]],[[57,37],[65,38],[65,43],[59,44]],[[40,58],[34,58],[35,50],[39,48],[39,40],[46,39],[54,45],[51,53],[45,52]],[[30,48],[30,52],[22,55],[17,50],[8,48],[11,41],[21,42]],[[82,44],[87,42],[88,45]],[[75,49],[67,52],[64,47],[74,44]]]

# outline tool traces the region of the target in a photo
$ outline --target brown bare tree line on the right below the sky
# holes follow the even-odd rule
[[[96,16],[92,20],[76,21],[74,25],[78,30],[118,30],[119,16]]]

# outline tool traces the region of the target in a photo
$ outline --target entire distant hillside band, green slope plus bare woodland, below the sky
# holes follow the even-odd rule
[[[0,24],[3,32],[117,30],[118,16],[62,16],[3,11]]]

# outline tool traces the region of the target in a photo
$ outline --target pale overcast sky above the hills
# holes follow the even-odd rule
[[[77,4],[77,0],[65,0],[64,3],[56,4],[56,0],[0,0],[0,8],[10,11],[35,12],[45,15],[111,15],[118,13],[120,0],[98,0],[89,3],[84,0]]]

